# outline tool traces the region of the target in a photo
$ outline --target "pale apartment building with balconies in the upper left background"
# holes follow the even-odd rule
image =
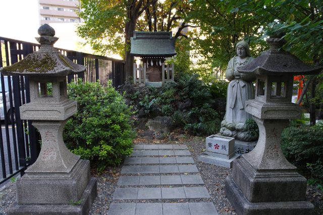
[[[39,0],[40,24],[82,22],[79,0]]]

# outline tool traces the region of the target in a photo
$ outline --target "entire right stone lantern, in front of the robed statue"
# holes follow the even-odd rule
[[[282,50],[286,41],[278,36],[266,41],[269,50],[238,67],[240,73],[257,76],[255,98],[246,101],[246,112],[259,127],[259,140],[234,160],[225,193],[238,214],[307,214],[314,206],[305,201],[306,179],[285,158],[280,139],[289,120],[301,117],[300,106],[291,103],[293,76],[318,74],[322,67]]]

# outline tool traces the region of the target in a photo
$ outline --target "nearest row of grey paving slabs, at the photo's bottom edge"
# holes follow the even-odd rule
[[[184,203],[112,203],[108,215],[218,215],[212,202]]]

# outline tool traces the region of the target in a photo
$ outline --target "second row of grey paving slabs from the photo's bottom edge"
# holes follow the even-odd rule
[[[116,188],[113,199],[210,198],[205,187]]]

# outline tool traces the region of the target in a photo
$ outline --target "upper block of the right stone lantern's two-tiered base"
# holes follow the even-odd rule
[[[255,171],[241,157],[232,178],[249,202],[303,201],[306,179],[295,171]]]

